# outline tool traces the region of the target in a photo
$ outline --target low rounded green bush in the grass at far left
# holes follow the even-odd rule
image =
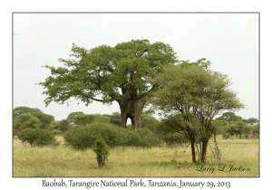
[[[53,134],[42,128],[25,128],[18,134],[18,138],[23,143],[29,143],[31,147],[53,145],[55,143]]]

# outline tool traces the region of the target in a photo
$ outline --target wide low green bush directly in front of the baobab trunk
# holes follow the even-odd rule
[[[63,138],[73,148],[79,150],[92,148],[94,141],[98,138],[103,139],[109,147],[155,147],[161,143],[160,139],[148,128],[131,131],[111,123],[98,122],[72,128],[64,134]]]

